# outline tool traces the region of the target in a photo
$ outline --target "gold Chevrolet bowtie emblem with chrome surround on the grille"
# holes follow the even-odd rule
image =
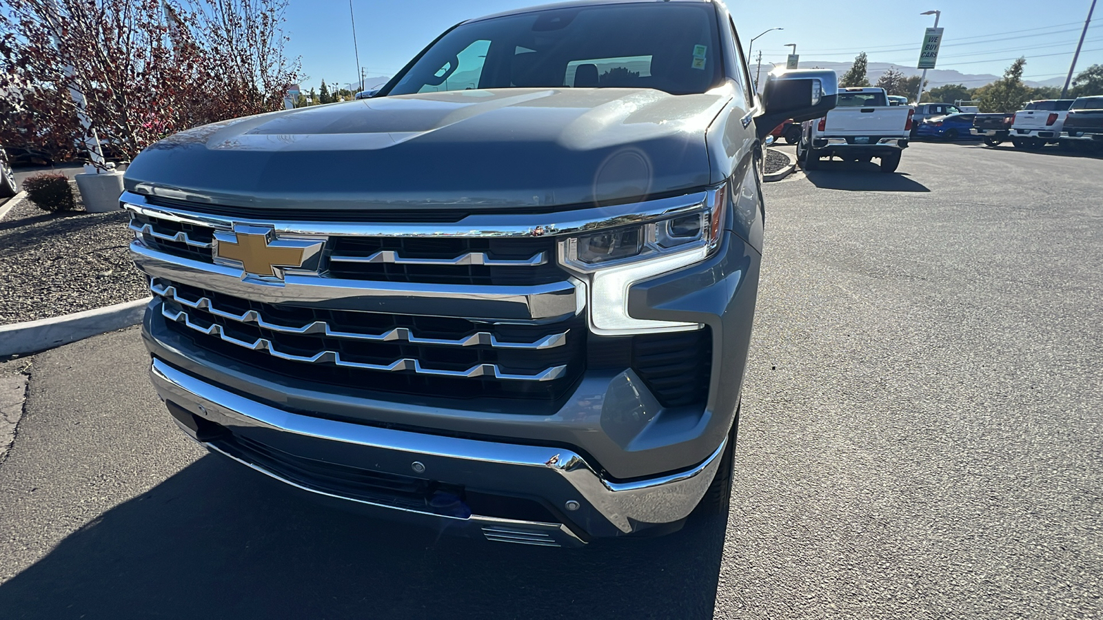
[[[240,266],[246,275],[282,277],[282,269],[299,268],[321,249],[320,239],[277,238],[271,228],[236,225],[234,232],[216,232],[216,263]]]

